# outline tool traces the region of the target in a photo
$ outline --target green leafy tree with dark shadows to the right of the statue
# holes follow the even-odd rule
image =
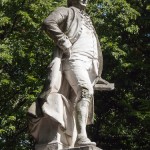
[[[104,51],[103,76],[116,87],[95,95],[90,135],[104,149],[150,148],[149,6],[146,0],[99,0],[90,6]]]

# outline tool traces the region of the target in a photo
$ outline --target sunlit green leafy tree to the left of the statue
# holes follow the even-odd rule
[[[26,112],[42,88],[52,41],[41,31],[43,19],[63,1],[0,2],[0,147],[31,149]]]

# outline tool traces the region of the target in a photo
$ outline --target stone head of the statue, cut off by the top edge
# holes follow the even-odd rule
[[[67,0],[68,7],[75,6],[84,9],[88,3],[88,0]]]

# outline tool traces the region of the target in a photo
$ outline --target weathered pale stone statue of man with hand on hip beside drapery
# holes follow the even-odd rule
[[[43,22],[43,29],[56,44],[48,79],[28,110],[29,129],[41,144],[57,148],[96,145],[87,137],[93,123],[94,86],[101,78],[103,58],[99,40],[85,8],[88,0],[68,0]],[[60,146],[62,144],[62,146]]]

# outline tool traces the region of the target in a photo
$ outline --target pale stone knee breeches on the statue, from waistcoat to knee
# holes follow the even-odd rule
[[[63,62],[63,71],[65,78],[73,88],[77,98],[81,98],[82,91],[85,89],[88,95],[93,95],[93,85],[98,76],[98,60],[65,60]]]

